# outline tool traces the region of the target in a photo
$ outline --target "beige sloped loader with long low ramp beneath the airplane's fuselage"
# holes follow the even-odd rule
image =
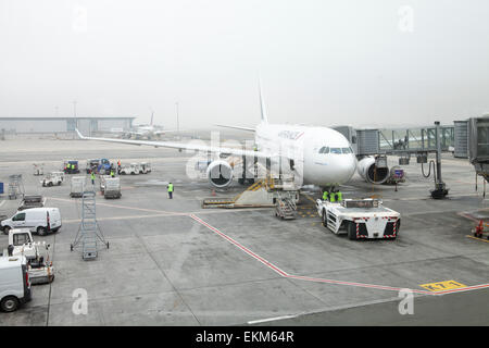
[[[202,208],[276,208],[277,199],[299,202],[299,187],[293,176],[275,175],[255,182],[236,197],[204,198]]]

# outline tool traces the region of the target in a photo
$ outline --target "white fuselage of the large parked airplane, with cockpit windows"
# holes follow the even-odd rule
[[[261,123],[255,144],[259,151],[293,160],[293,172],[303,185],[338,186],[350,181],[356,169],[348,139],[327,127]]]

